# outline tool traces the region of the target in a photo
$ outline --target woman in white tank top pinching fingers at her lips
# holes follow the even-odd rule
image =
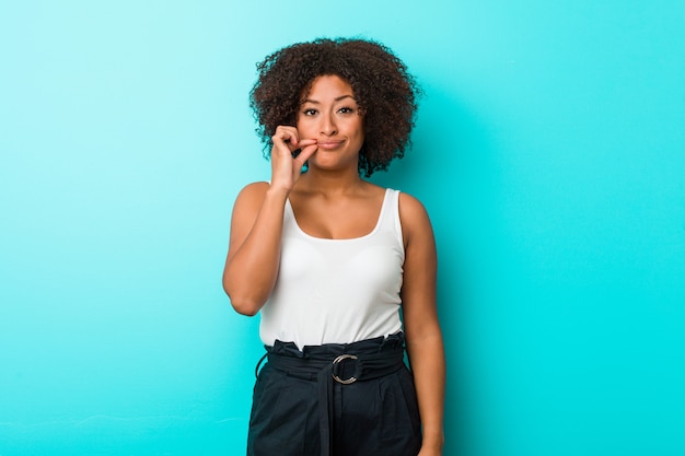
[[[223,272],[235,311],[260,312],[268,355],[247,454],[440,455],[432,229],[417,199],[362,178],[403,156],[414,79],[363,39],[295,44],[258,70],[271,180],[237,196]]]

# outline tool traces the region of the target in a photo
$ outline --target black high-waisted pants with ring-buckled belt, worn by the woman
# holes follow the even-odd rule
[[[277,340],[267,355],[254,388],[248,456],[418,454],[421,426],[403,334],[302,351]]]

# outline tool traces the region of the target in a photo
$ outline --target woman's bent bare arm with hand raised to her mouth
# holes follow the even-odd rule
[[[315,140],[298,138],[294,127],[278,127],[271,138],[271,184],[246,186],[235,200],[223,290],[236,312],[255,315],[269,297],[280,261],[286,199],[302,164],[316,151]],[[292,151],[302,148],[292,159]]]

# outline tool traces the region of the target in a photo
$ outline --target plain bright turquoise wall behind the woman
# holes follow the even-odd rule
[[[359,34],[426,91],[374,180],[433,220],[445,455],[685,455],[685,3],[239,3],[0,5],[0,455],[243,454],[254,65]]]

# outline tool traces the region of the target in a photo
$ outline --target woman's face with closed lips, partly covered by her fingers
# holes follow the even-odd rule
[[[312,82],[298,113],[300,139],[316,139],[318,149],[310,167],[357,167],[364,142],[363,116],[350,84],[337,75],[322,75]]]

